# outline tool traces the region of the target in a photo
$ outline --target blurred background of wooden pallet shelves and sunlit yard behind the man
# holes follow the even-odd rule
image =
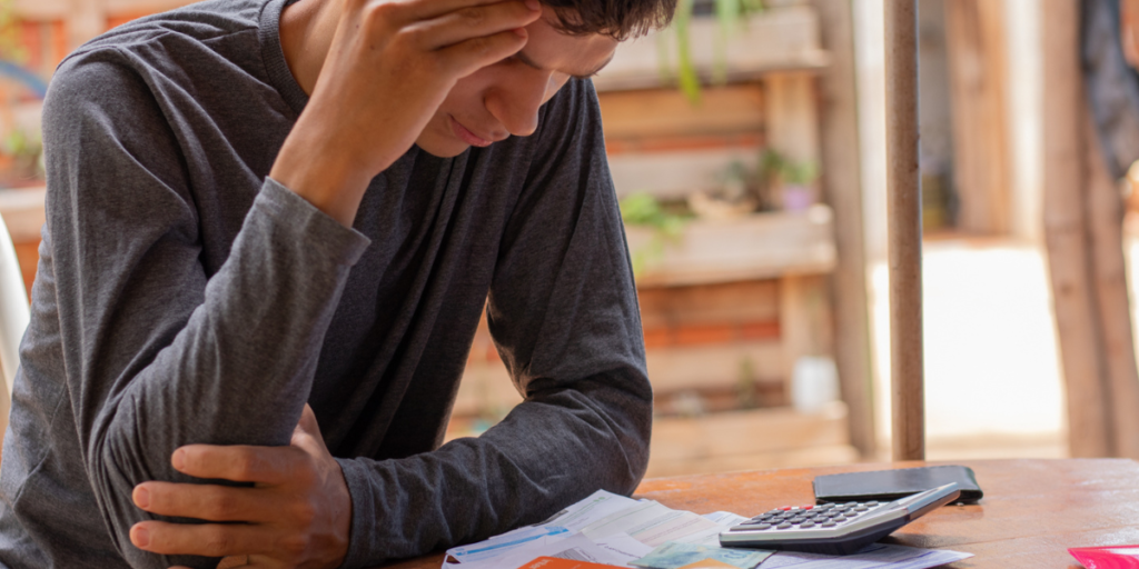
[[[681,0],[595,80],[656,397],[649,476],[888,460],[882,2]],[[0,214],[28,288],[55,66],[183,3],[0,0]],[[1065,3],[919,1],[931,460],[1133,454],[1139,122],[1100,102],[1139,113],[1139,10]],[[1090,39],[1118,65],[1089,65]],[[1073,81],[1089,100],[1049,105]],[[519,401],[484,322],[449,436]]]

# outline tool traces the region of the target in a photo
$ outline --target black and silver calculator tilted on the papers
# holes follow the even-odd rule
[[[893,502],[777,508],[721,533],[720,545],[846,555],[960,495],[951,483]]]

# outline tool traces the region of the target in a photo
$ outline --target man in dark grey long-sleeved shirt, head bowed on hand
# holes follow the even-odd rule
[[[0,563],[370,567],[631,492],[652,391],[585,77],[672,9],[212,0],[69,56]],[[526,401],[440,447],[484,302]]]

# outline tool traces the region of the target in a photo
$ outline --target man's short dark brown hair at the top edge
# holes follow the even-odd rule
[[[677,0],[542,0],[573,35],[600,33],[617,41],[645,35],[672,22]]]

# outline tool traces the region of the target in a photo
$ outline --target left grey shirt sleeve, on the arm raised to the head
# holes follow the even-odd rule
[[[113,49],[65,63],[44,102],[47,234],[82,461],[137,568],[214,567],[136,549],[131,502],[190,443],[287,445],[321,340],[368,239],[265,180],[207,274],[179,139]],[[235,189],[237,191],[237,189]],[[248,191],[244,189],[241,191]]]

